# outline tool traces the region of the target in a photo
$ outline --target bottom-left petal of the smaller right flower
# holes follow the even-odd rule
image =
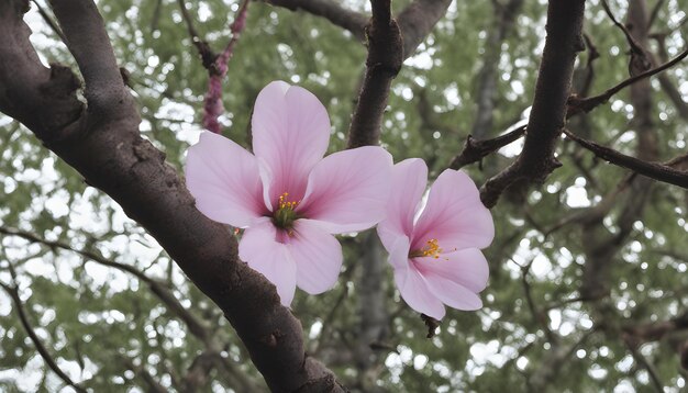
[[[395,269],[395,282],[401,297],[419,313],[442,319],[445,314],[444,305],[432,293],[423,277],[412,266],[406,269]]]

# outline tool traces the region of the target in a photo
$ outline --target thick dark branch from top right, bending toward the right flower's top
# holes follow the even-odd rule
[[[519,180],[541,182],[561,164],[554,158],[566,116],[576,54],[585,48],[581,37],[585,0],[551,0],[547,8],[547,37],[528,123],[523,151],[517,160],[480,190],[486,206]]]

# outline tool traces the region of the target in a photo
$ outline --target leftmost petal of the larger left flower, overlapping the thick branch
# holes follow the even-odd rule
[[[245,227],[267,212],[256,158],[221,135],[202,133],[189,148],[186,182],[211,220]]]

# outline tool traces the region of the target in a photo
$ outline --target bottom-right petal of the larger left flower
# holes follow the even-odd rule
[[[342,268],[342,246],[309,220],[295,222],[289,248],[297,263],[297,284],[310,294],[332,289]]]

